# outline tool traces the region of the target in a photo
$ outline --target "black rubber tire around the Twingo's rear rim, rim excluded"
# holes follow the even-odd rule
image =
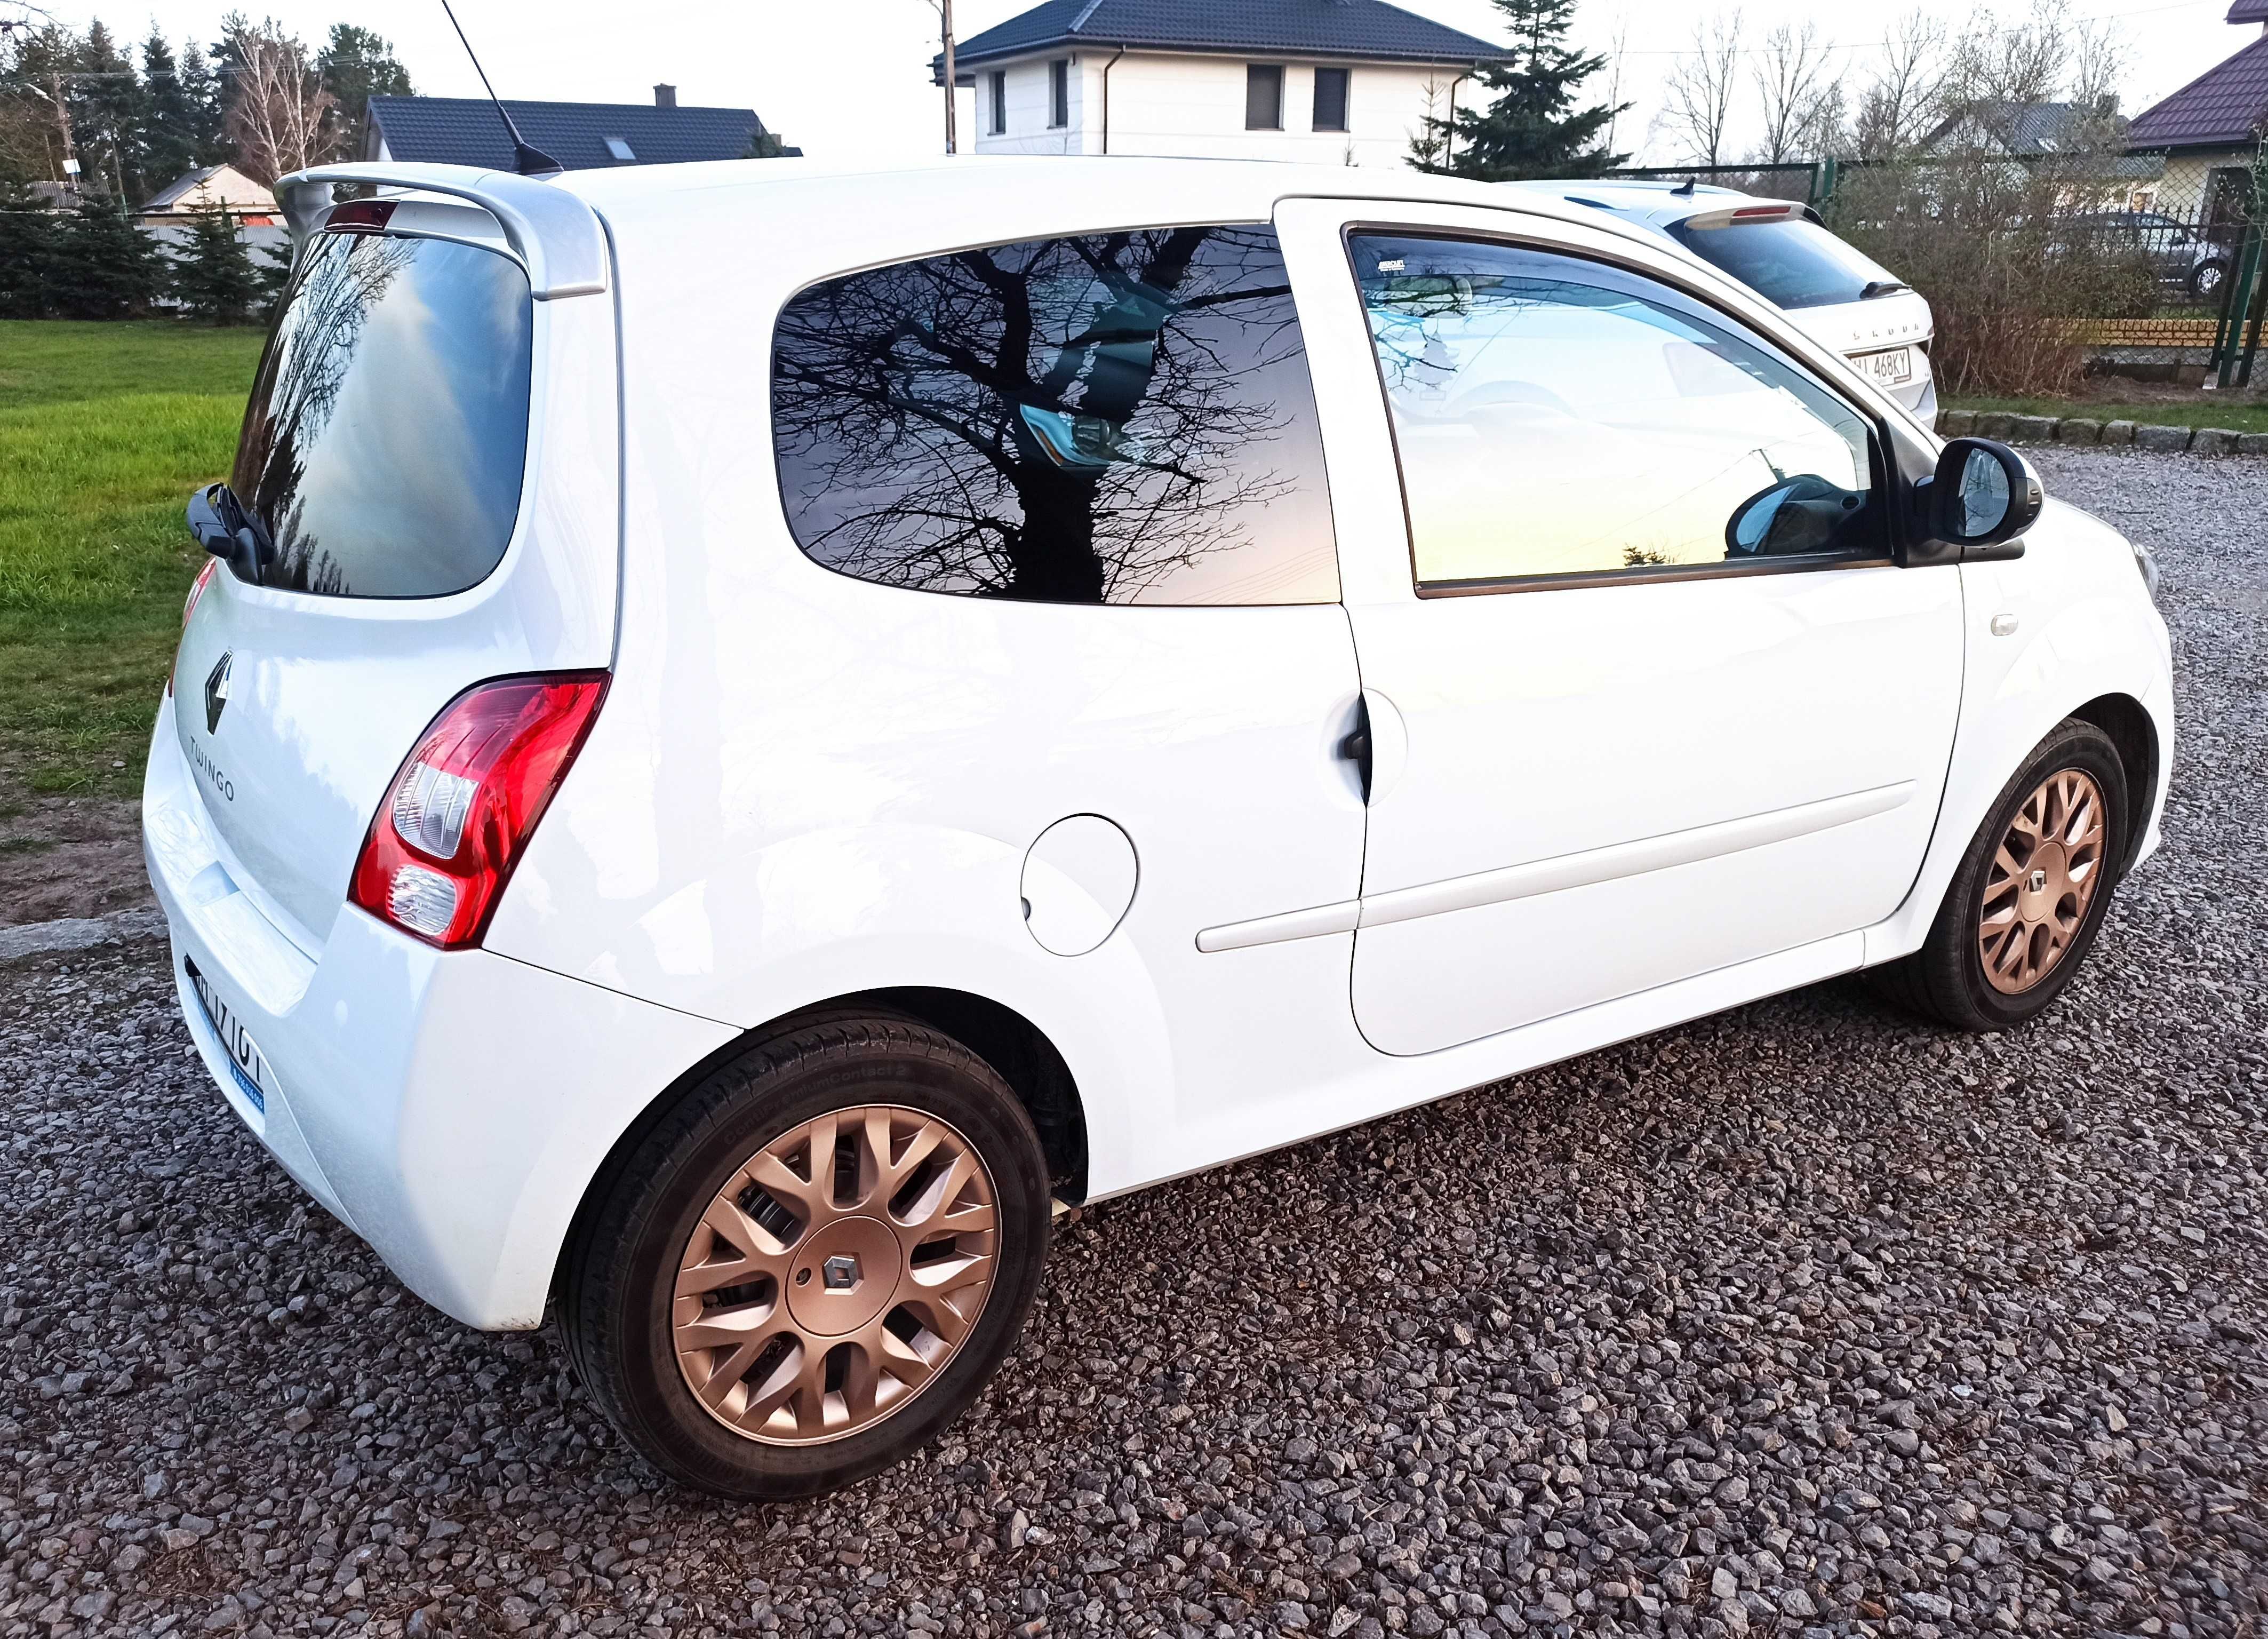
[[[991,1174],[991,1292],[943,1369],[905,1405],[826,1444],[764,1444],[694,1398],[671,1344],[678,1262],[717,1192],[764,1144],[830,1110],[943,1119]],[[569,1249],[560,1326],[615,1428],[680,1485],[744,1501],[814,1496],[934,1439],[1016,1344],[1048,1255],[1048,1162],[1032,1119],[959,1042],[903,1015],[832,1012],[705,1071],[599,1183]]]

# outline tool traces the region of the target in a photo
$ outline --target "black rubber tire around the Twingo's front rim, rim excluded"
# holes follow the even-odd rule
[[[2064,770],[2089,774],[2102,792],[2102,881],[2055,965],[2030,990],[2007,994],[1984,978],[1984,956],[1978,949],[1987,874],[2019,808],[2041,781]],[[1876,990],[1901,1008],[1955,1031],[2007,1031],[2039,1017],[2093,949],[2096,931],[2102,926],[2112,892],[2118,888],[2118,872],[2125,867],[2127,813],[2127,776],[2118,760],[2118,747],[2091,722],[2077,717],[2059,722],[2055,733],[2041,740],[2039,749],[2000,788],[2000,797],[1994,799],[1991,813],[1969,842],[1960,869],[1953,872],[1946,899],[1930,924],[1930,938],[1912,956],[1873,969]]]

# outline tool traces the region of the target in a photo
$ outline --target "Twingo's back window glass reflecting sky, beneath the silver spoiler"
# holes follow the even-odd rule
[[[528,277],[442,238],[320,234],[268,343],[229,488],[263,586],[440,597],[497,568],[528,452]]]

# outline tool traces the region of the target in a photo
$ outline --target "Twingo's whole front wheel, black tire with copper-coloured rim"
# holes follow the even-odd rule
[[[1969,842],[1930,938],[1878,969],[1898,1003],[1957,1031],[2037,1017],[2077,974],[2127,849],[2118,747],[2064,720]]]

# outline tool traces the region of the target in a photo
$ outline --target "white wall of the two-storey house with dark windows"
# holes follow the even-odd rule
[[[1347,132],[1318,132],[1313,61],[1277,57],[1198,57],[1166,52],[1082,50],[1070,61],[1070,125],[1048,127],[1048,59],[1005,64],[1007,134],[991,132],[991,70],[975,70],[980,154],[1100,154],[1109,66],[1111,154],[1182,154],[1195,159],[1290,159],[1306,163],[1402,166],[1427,114],[1447,114],[1449,82],[1458,68],[1399,64],[1322,64],[1349,68]],[[1284,64],[1284,129],[1245,129],[1247,61]],[[1458,100],[1472,95],[1467,82]]]

